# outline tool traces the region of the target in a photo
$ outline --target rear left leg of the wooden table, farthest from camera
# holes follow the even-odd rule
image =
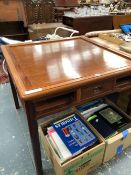
[[[20,108],[20,105],[19,105],[19,100],[18,100],[17,92],[16,92],[14,83],[12,81],[12,78],[11,78],[9,72],[8,72],[8,76],[9,76],[11,90],[12,90],[12,94],[13,94],[13,98],[14,98],[14,102],[15,102],[15,107],[16,107],[16,109],[19,109]]]

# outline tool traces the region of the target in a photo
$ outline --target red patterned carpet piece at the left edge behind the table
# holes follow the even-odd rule
[[[3,71],[2,63],[3,63],[3,60],[0,59],[0,84],[4,84],[4,83],[9,82],[8,76]]]

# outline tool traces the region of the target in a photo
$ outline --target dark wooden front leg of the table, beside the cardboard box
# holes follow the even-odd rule
[[[35,119],[34,106],[31,102],[25,102],[25,109],[32,142],[36,173],[37,175],[42,175],[43,170],[42,170],[41,151],[40,151],[40,142],[38,134],[38,123],[37,120]]]

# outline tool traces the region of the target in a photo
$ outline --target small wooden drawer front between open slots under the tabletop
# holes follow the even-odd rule
[[[113,85],[113,80],[105,80],[96,84],[85,86],[81,89],[81,100],[101,95],[106,92],[111,92],[113,90]]]

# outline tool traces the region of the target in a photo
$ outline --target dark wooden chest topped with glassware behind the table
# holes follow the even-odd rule
[[[106,15],[89,17],[67,17],[63,16],[63,24],[78,30],[80,35],[91,31],[118,29],[122,23],[131,21],[131,15]],[[119,24],[119,25],[118,25]]]

